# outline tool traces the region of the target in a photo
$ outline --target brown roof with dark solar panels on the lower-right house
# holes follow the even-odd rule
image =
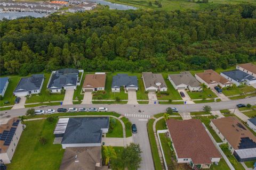
[[[238,149],[241,138],[248,137],[256,142],[256,137],[236,117],[229,116],[211,121],[234,149]]]

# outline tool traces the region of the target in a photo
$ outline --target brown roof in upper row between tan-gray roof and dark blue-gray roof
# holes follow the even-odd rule
[[[203,79],[206,83],[211,83],[213,81],[220,82],[221,84],[232,84],[228,79],[222,77],[220,74],[214,70],[205,70],[204,73],[196,73],[196,75]]]

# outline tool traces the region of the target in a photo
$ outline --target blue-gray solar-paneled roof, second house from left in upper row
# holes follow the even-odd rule
[[[39,90],[43,83],[44,74],[33,74],[31,77],[21,78],[14,92]]]

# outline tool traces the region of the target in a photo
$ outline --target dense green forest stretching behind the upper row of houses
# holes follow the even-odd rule
[[[1,21],[1,75],[225,69],[256,60],[256,6],[99,10]]]

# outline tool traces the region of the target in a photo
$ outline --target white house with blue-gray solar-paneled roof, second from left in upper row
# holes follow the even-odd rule
[[[33,74],[31,77],[21,78],[13,94],[18,97],[39,94],[43,83],[44,74]]]

